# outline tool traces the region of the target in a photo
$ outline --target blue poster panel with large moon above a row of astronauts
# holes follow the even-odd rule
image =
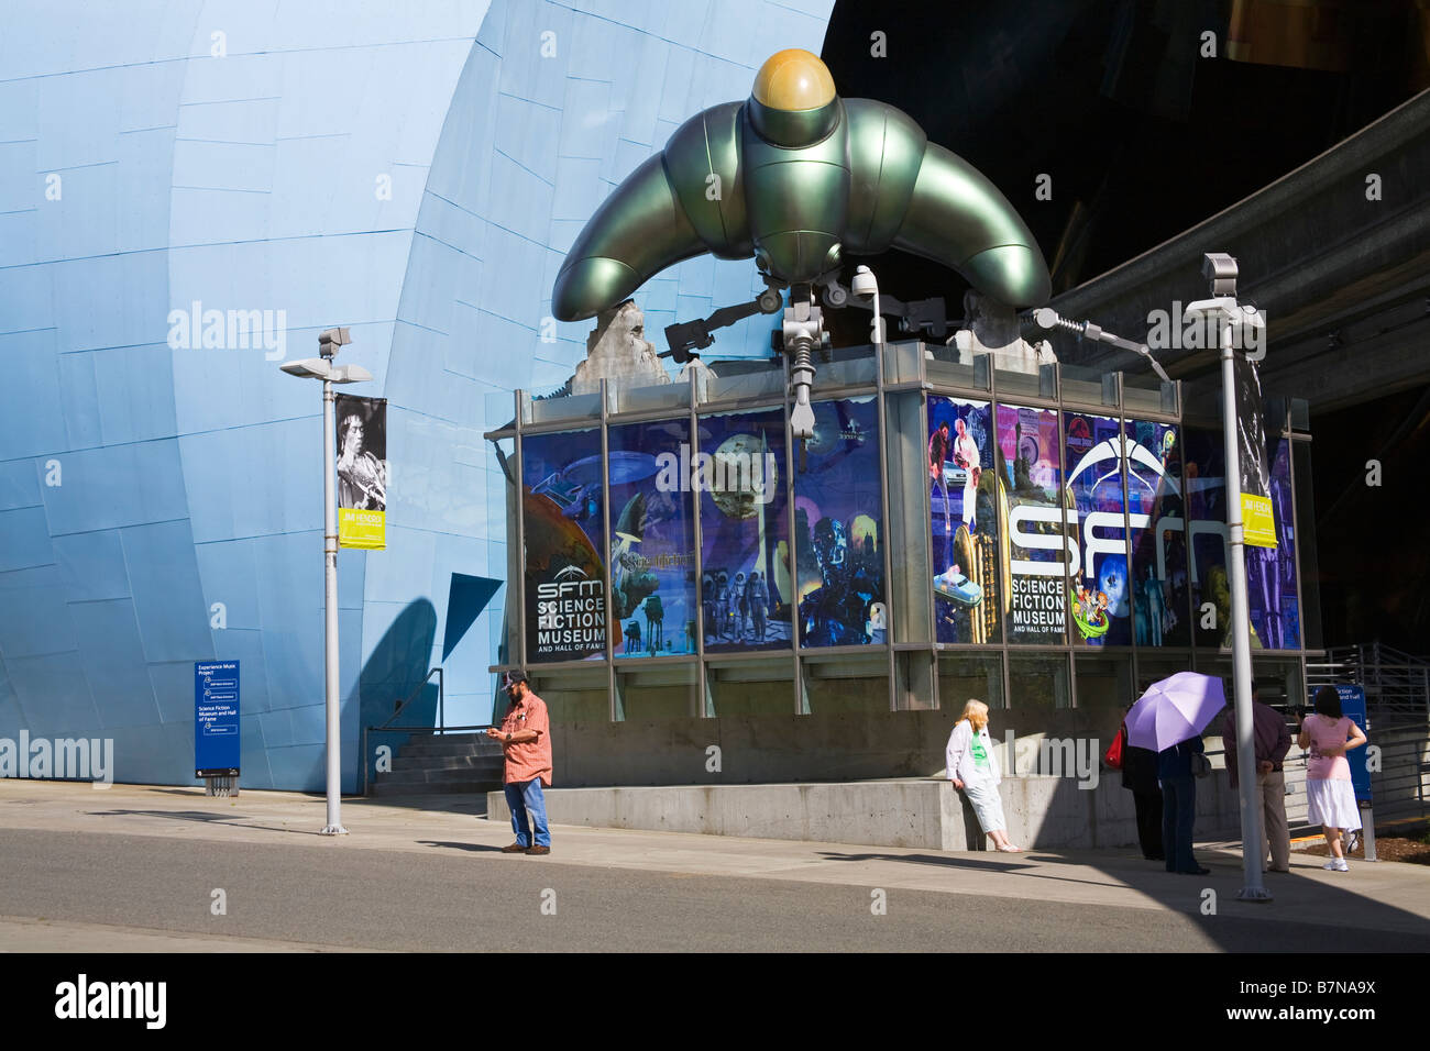
[[[699,419],[692,476],[701,503],[701,622],[706,653],[789,646],[785,413]]]

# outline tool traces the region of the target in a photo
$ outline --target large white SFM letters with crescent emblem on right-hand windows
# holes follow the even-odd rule
[[[1098,442],[1095,446],[1088,449],[1088,452],[1078,460],[1077,466],[1068,470],[1068,478],[1078,478],[1084,470],[1090,468],[1113,460],[1114,466],[1101,473],[1097,482],[1104,482],[1114,476],[1121,476],[1123,463],[1127,463],[1127,480],[1128,485],[1137,482],[1144,485],[1151,490],[1155,490],[1157,483],[1148,482],[1140,473],[1133,470],[1134,463],[1140,463],[1148,470],[1151,470],[1155,478],[1165,483],[1167,488],[1175,493],[1181,495],[1181,488],[1177,485],[1177,479],[1167,476],[1167,469],[1163,462],[1147,448],[1138,445],[1137,442],[1118,435],[1115,438]],[[1028,523],[1067,523],[1072,526],[1062,536],[1055,533],[1041,533],[1030,532],[1025,529]],[[1034,562],[1031,559],[1012,559],[1010,563],[1011,571],[1020,576],[1075,576],[1083,572],[1083,546],[1078,545],[1075,528],[1081,523],[1084,546],[1087,548],[1088,565],[1093,563],[1095,555],[1127,555],[1131,556],[1133,545],[1131,538],[1125,532],[1125,526],[1133,529],[1147,529],[1153,525],[1151,515],[1141,512],[1128,512],[1125,520],[1123,512],[1120,510],[1091,510],[1087,516],[1081,516],[1077,508],[1048,508],[1037,505],[1022,505],[1012,508],[1008,512],[1008,532],[1010,539],[1018,548],[1024,551],[1067,551],[1067,565],[1062,562]],[[1183,519],[1178,515],[1164,515],[1157,519],[1157,579],[1164,579],[1167,576],[1167,551],[1165,551],[1165,536],[1168,532],[1180,533],[1183,528]],[[1227,526],[1224,522],[1211,522],[1205,519],[1193,520],[1188,526],[1187,552],[1190,558],[1188,572],[1193,582],[1198,581],[1197,575],[1197,561],[1195,561],[1195,538],[1203,533],[1213,533],[1221,538],[1223,543],[1227,539]]]

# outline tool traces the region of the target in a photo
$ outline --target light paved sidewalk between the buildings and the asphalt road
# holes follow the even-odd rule
[[[323,837],[322,796],[243,792],[209,798],[202,788],[0,781],[0,829],[112,832],[183,841],[267,844],[302,851],[412,851],[502,847],[511,827],[478,816],[482,801],[346,799],[346,837]],[[428,809],[430,806],[430,809]],[[1267,875],[1271,904],[1237,901],[1234,845],[1203,844],[1207,877],[1173,875],[1131,849],[1021,855],[741,839],[679,832],[555,827],[552,862],[603,869],[746,877],[845,887],[882,887],[1044,902],[1198,912],[1216,894],[1223,917],[1307,922],[1430,937],[1430,879],[1421,867],[1353,864],[1327,872],[1321,858],[1293,855],[1291,875]],[[546,858],[502,858],[542,865]],[[4,928],[0,928],[3,931]],[[1370,935],[1373,938],[1373,935]],[[293,947],[289,948],[302,948]]]

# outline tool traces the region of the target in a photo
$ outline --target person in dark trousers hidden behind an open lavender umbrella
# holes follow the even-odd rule
[[[1201,731],[1227,704],[1221,679],[1177,672],[1154,682],[1127,714],[1127,744],[1157,752],[1163,789],[1163,851],[1168,872],[1207,875],[1191,851],[1197,774],[1207,768]]]

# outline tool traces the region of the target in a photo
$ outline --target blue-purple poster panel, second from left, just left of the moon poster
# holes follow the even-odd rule
[[[695,652],[689,440],[689,420],[625,423],[606,432],[616,656]]]

